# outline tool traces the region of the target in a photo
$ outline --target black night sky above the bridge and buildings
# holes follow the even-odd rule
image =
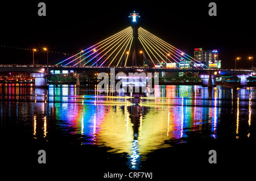
[[[38,16],[38,3],[46,16]],[[217,16],[209,16],[216,2]],[[138,25],[193,57],[193,48],[218,49],[224,68],[250,68],[255,54],[255,12],[251,1],[33,1],[0,5],[1,64],[28,64],[30,50],[47,46],[49,62],[131,26],[129,14],[141,15]],[[3,47],[6,46],[6,47]],[[15,48],[13,48],[15,47]],[[35,60],[45,63],[43,52]],[[256,64],[256,63],[255,63]]]

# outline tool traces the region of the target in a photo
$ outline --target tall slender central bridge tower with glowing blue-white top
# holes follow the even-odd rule
[[[138,26],[137,26],[137,19],[141,18],[139,14],[135,11],[130,14],[129,18],[132,18],[131,22],[133,23],[133,63],[132,65],[137,66],[137,55],[136,55],[136,49],[139,46],[138,45]]]

